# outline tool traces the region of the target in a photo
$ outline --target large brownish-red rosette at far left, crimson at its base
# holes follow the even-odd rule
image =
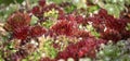
[[[29,23],[29,14],[17,11],[9,16],[4,28],[8,32],[12,32],[14,38],[25,39],[28,36]]]

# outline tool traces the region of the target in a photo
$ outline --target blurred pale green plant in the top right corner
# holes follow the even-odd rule
[[[107,12],[115,17],[119,17],[120,12],[128,11],[127,7],[130,7],[130,0],[92,0],[94,4],[106,9]]]

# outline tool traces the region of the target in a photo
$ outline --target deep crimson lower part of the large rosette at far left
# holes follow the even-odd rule
[[[26,39],[28,35],[29,35],[28,26],[18,27],[13,30],[13,37],[17,39]]]

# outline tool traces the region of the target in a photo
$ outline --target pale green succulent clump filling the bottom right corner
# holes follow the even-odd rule
[[[102,45],[102,49],[96,53],[98,60],[129,61],[128,58],[130,58],[130,56],[128,53],[130,52],[130,49],[128,46],[129,40],[120,40],[116,45],[114,45],[112,41],[109,41],[107,45]]]

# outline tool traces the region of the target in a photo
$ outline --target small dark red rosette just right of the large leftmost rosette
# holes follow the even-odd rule
[[[47,33],[47,29],[39,26],[39,25],[32,26],[31,29],[30,29],[30,36],[31,37],[38,37],[38,36],[41,36],[46,33]]]

